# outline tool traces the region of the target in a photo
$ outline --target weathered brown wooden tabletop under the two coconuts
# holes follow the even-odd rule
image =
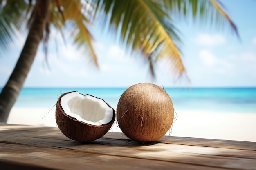
[[[256,143],[165,136],[141,144],[108,132],[90,143],[58,128],[0,124],[0,170],[256,170]]]

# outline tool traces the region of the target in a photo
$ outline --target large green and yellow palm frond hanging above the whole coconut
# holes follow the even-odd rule
[[[171,61],[178,75],[184,73],[178,49],[178,31],[166,13],[163,3],[155,0],[98,0],[97,9],[109,17],[110,27],[119,31],[120,38],[133,50],[140,51],[149,61],[151,75],[153,64],[162,57]],[[174,72],[175,72],[174,71]]]

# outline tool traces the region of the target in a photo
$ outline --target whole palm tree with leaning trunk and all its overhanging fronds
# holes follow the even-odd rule
[[[128,49],[141,53],[154,76],[154,64],[165,58],[175,75],[184,74],[178,30],[173,16],[192,16],[194,20],[210,18],[215,24],[229,24],[238,35],[235,24],[218,0],[0,0],[0,44],[8,49],[16,31],[28,23],[28,35],[16,66],[0,94],[0,122],[6,122],[23,83],[33,64],[40,41],[45,46],[51,25],[61,33],[68,31],[74,43],[86,47],[94,64],[90,25],[100,18],[102,26],[120,35]]]

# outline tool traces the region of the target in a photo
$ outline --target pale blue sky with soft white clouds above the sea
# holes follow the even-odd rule
[[[164,87],[256,87],[256,0],[220,1],[238,27],[240,39],[228,25],[218,28],[174,19],[181,32],[182,60],[189,79],[177,79],[162,66],[163,61],[156,66],[153,79],[143,57],[130,55],[113,35],[101,30],[93,34],[99,62],[96,68],[85,51],[69,40],[65,44],[60,33],[52,29],[49,68],[40,45],[24,87],[129,87],[141,82]],[[17,35],[11,49],[0,55],[0,87],[11,75],[25,38]]]

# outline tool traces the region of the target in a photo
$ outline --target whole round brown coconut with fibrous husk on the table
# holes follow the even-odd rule
[[[120,129],[132,140],[156,141],[171,128],[174,109],[166,91],[151,83],[130,86],[117,104]]]

